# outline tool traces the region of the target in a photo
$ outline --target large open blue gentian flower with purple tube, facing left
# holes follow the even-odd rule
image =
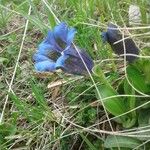
[[[83,75],[87,74],[83,59],[91,71],[93,68],[92,59],[78,47],[79,55],[72,45],[75,33],[76,30],[68,28],[65,23],[60,23],[53,31],[48,31],[47,37],[33,55],[35,69],[40,72],[54,72],[56,69],[62,69],[67,73]]]

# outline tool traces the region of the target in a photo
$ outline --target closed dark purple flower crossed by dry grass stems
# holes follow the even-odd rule
[[[102,40],[103,42],[107,41],[116,54],[118,55],[125,54],[122,34],[116,25],[112,23],[108,25],[107,31],[102,32]],[[120,42],[115,43],[117,41],[120,41]],[[139,54],[139,49],[131,38],[124,39],[124,43],[125,43],[126,54],[135,54],[135,55]],[[137,58],[136,56],[129,56],[129,55],[126,56],[126,60],[129,62],[133,62],[136,58]]]

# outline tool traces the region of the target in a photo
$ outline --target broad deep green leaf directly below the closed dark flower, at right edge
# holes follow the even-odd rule
[[[143,93],[148,92],[148,86],[145,83],[145,78],[135,66],[128,66],[127,75],[129,81],[136,89]]]

